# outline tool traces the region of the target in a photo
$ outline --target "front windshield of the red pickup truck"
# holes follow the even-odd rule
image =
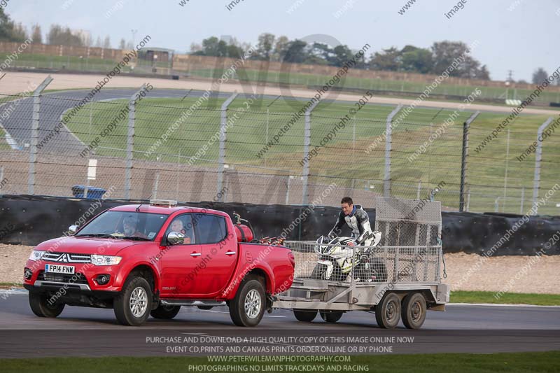
[[[153,241],[167,215],[130,211],[105,211],[83,227],[76,237],[106,237]]]

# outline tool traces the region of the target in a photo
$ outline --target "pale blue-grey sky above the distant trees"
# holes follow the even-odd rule
[[[183,1],[183,6],[179,3]],[[85,29],[111,37],[113,48],[125,38],[150,35],[150,46],[184,53],[209,36],[233,36],[255,43],[269,32],[290,39],[335,40],[353,50],[412,44],[428,48],[435,41],[478,41],[472,56],[486,64],[491,79],[531,81],[538,67],[549,73],[560,66],[560,0],[9,0],[6,13],[43,35],[50,24]],[[556,31],[555,31],[556,30]],[[44,38],[44,36],[43,36]]]

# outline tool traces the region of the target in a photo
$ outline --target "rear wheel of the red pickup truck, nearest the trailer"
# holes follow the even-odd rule
[[[266,308],[264,286],[254,277],[245,278],[229,306],[230,316],[235,325],[249,327],[258,325]]]

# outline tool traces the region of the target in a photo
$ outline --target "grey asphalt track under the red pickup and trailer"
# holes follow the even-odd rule
[[[0,358],[560,350],[560,307],[451,304],[446,312],[428,312],[421,330],[407,330],[402,324],[383,330],[374,314],[363,311],[346,313],[335,324],[323,322],[320,316],[302,323],[287,309],[265,314],[256,328],[239,328],[232,324],[227,307],[209,311],[183,307],[174,320],[150,318],[132,328],[118,325],[112,309],[66,307],[58,318],[38,318],[29,309],[27,292],[4,295]],[[248,341],[241,341],[244,337]],[[350,341],[350,337],[360,340]],[[325,342],[320,343],[321,338]],[[226,353],[228,346],[241,351]]]

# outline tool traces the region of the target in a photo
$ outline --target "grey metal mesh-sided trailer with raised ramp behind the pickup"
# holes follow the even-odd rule
[[[402,319],[410,329],[421,328],[428,309],[445,311],[449,286],[440,276],[442,267],[445,276],[440,202],[377,197],[375,209],[381,241],[344,246],[352,265],[340,266],[334,275],[318,270],[324,245],[286,241],[295,256],[294,281],[276,296],[273,308],[293,309],[304,322],[320,314],[328,323],[348,311],[368,311],[381,328],[395,328]],[[365,253],[367,265],[358,266]]]

